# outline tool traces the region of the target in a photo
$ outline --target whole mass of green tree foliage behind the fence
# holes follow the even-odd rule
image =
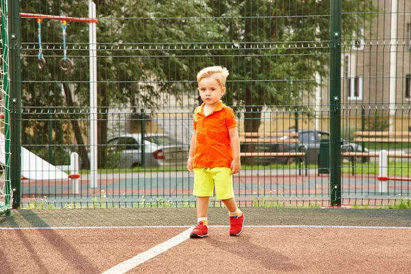
[[[196,74],[220,64],[230,71],[223,98],[245,112],[246,131],[257,131],[264,105],[302,108],[312,95],[314,75],[327,77],[329,1],[297,0],[119,0],[97,5],[99,145],[107,137],[113,106],[161,108],[173,95],[195,99]],[[22,12],[87,17],[85,1],[21,1]],[[343,1],[343,36],[370,25],[373,3]],[[22,18],[23,145],[84,145],[90,92],[87,23],[69,22],[67,55],[73,70],[62,72],[60,21],[42,22],[47,61],[37,68],[38,24]],[[72,98],[71,98],[72,97]],[[192,105],[192,103],[191,103]],[[70,113],[67,113],[67,109]],[[82,155],[86,155],[83,151]],[[99,159],[107,157],[101,146]],[[83,159],[86,162],[86,158]]]

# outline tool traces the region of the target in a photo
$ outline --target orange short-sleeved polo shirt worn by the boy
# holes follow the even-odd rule
[[[232,108],[222,101],[206,116],[203,103],[195,110],[195,151],[193,168],[230,167],[234,159],[228,129],[237,126]]]

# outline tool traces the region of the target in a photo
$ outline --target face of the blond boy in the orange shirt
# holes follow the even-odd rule
[[[201,79],[198,89],[201,100],[212,107],[219,103],[221,96],[225,93],[225,88],[212,76]]]

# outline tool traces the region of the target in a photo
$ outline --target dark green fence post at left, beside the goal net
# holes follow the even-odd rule
[[[10,128],[12,158],[10,180],[13,189],[12,208],[20,207],[21,199],[21,21],[20,1],[8,1],[10,36]]]

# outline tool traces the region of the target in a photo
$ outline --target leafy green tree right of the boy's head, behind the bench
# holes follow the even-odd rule
[[[327,76],[330,1],[210,0],[227,29],[232,102],[245,110],[245,131],[257,132],[262,108],[301,107],[314,94],[314,75]],[[371,22],[370,1],[343,1],[343,35]],[[375,15],[374,15],[375,16]],[[236,56],[235,58],[232,56]],[[220,60],[218,60],[220,61]]]

